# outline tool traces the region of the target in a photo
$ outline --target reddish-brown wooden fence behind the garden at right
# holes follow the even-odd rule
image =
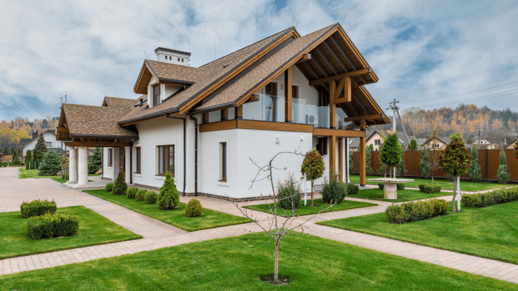
[[[514,155],[514,150],[504,150],[506,153],[507,167],[511,177],[509,180],[518,181],[518,159]],[[380,172],[380,152],[371,152],[371,168],[373,174],[383,174]],[[436,155],[439,159],[439,155],[442,154],[441,150],[428,151],[428,154]],[[500,150],[479,150],[479,165],[482,179],[484,180],[496,180],[496,171],[498,170]],[[421,158],[420,151],[405,151],[404,161],[407,173],[404,176],[423,177],[421,176],[421,168],[419,167],[419,159]],[[352,173],[357,173],[359,165],[359,152],[353,152],[354,166]],[[387,169],[387,174],[389,170]],[[434,177],[447,177],[447,173],[442,169],[434,171]],[[461,176],[461,178],[469,178],[469,174]]]

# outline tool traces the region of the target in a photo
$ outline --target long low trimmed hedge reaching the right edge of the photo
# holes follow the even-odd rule
[[[486,207],[518,200],[518,187],[499,189],[487,193],[464,194],[462,203],[465,207]]]

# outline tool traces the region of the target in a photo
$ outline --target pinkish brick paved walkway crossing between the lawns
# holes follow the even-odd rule
[[[74,199],[78,200],[78,202],[76,202],[74,205],[85,205],[89,209],[105,216],[107,219],[113,221],[114,223],[117,223],[126,229],[141,235],[144,238],[132,241],[89,246],[86,248],[51,252],[46,254],[3,259],[0,260],[0,275],[78,263],[81,261],[97,258],[133,254],[137,252],[155,250],[165,248],[167,246],[174,246],[196,241],[240,236],[246,234],[249,230],[261,230],[254,224],[242,224],[185,232],[179,228],[151,219],[148,216],[141,215],[118,205],[114,205],[113,203],[91,196],[87,193],[71,190],[69,188],[57,188],[56,182],[49,179],[16,179],[16,176],[13,176],[13,173],[16,174],[16,172],[13,172],[12,169],[0,169],[0,179],[2,179],[2,182],[7,182],[10,185],[10,191],[5,191],[5,188],[4,190],[0,190],[0,198],[2,201],[6,201],[9,205],[8,207],[0,208],[0,212],[17,211],[21,203],[19,203],[20,197],[27,197],[24,198],[25,200],[38,197],[38,195],[24,195],[23,193],[27,193],[26,191],[29,189],[32,191],[37,190],[38,193],[46,193],[46,197],[48,196],[50,199],[57,198],[56,200],[60,201],[60,205],[62,205],[64,202],[66,203],[67,201],[70,203],[71,201],[69,197],[74,197]],[[27,181],[20,183],[20,180]],[[52,182],[53,184],[49,184],[48,182]],[[55,191],[53,195],[51,195],[49,187]],[[1,188],[3,187],[0,187],[0,189]],[[7,195],[7,193],[9,194]],[[451,200],[452,196],[440,198]],[[190,199],[191,197],[180,197],[182,202],[187,202]],[[202,202],[204,208],[240,215],[240,211],[234,205],[232,205],[232,203],[227,201],[211,199],[207,197],[197,197],[197,199]],[[366,199],[352,197],[348,197],[347,199],[369,201]],[[318,221],[379,213],[383,212],[386,206],[391,205],[390,202],[370,201],[377,203],[378,206],[320,214],[318,217],[315,217],[313,221],[308,223],[310,234],[322,238],[362,246],[363,248],[367,249],[377,250],[380,252],[425,261],[448,268],[484,275],[486,277],[518,283],[518,265],[314,224]],[[16,203],[18,203],[17,209],[11,210],[11,205],[16,205]],[[239,203],[239,205],[244,206],[258,203],[264,203],[264,201],[243,202]],[[268,222],[271,220],[271,216],[263,212],[254,212],[254,217],[257,217],[257,220],[262,224],[268,224]],[[301,216],[299,217],[299,220],[302,221],[304,218],[306,217]]]

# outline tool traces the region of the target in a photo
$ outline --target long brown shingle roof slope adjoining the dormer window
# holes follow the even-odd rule
[[[157,115],[164,114],[165,112],[172,111],[177,109],[182,104],[186,103],[188,100],[195,98],[198,94],[204,92],[208,87],[217,82],[220,78],[226,76],[230,72],[234,71],[238,68],[243,62],[246,62],[250,57],[260,52],[261,50],[268,47],[272,42],[275,42],[279,37],[284,34],[290,32],[294,28],[289,28],[288,30],[282,31],[278,34],[267,37],[261,41],[254,43],[251,46],[240,49],[236,52],[228,54],[224,57],[221,57],[218,60],[215,60],[211,63],[208,63],[199,69],[206,69],[204,76],[200,78],[200,80],[196,81],[189,88],[179,92],[172,98],[165,100],[162,104],[158,106],[154,106],[152,108],[143,109],[142,107],[136,107],[130,113],[121,118],[119,123],[127,123],[134,120],[144,119],[147,117],[154,117]],[[228,64],[228,66],[223,67]]]

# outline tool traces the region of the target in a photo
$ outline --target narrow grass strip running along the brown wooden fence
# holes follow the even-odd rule
[[[380,177],[380,176],[367,176],[367,180],[368,179],[376,179],[376,178],[379,179],[379,178],[382,178],[382,177]],[[403,178],[403,179],[407,179],[407,178]],[[408,178],[408,179],[413,179],[413,178]],[[352,175],[350,177],[350,180],[351,180],[351,183],[358,184],[359,183],[359,176],[356,176],[356,175],[353,176]],[[413,179],[413,180],[414,180],[413,182],[405,183],[405,186],[418,188],[419,184],[430,184],[431,183],[431,179]],[[369,182],[369,181],[367,181],[367,184],[378,185],[378,182]],[[434,184],[440,185],[443,190],[453,190],[453,181],[450,182],[450,181],[447,181],[447,180],[441,180],[441,179],[434,178]],[[469,182],[469,181],[461,181],[461,192],[464,192],[464,191],[483,191],[483,190],[498,189],[498,188],[503,188],[503,187],[509,187],[509,184],[502,185],[502,184],[498,184],[498,183],[485,183],[485,182],[473,183],[473,182]]]

